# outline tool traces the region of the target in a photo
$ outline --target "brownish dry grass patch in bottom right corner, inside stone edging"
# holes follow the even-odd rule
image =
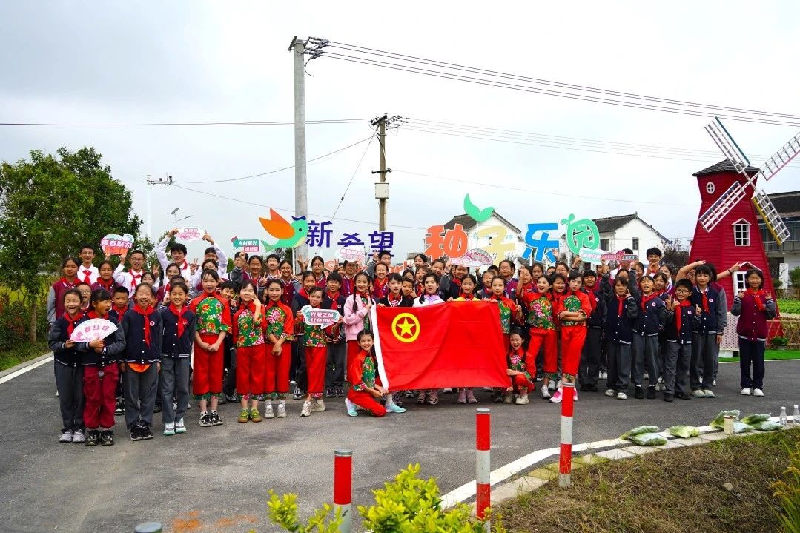
[[[772,483],[800,429],[728,438],[585,466],[493,509],[511,532],[779,531]],[[731,483],[733,490],[723,485]]]

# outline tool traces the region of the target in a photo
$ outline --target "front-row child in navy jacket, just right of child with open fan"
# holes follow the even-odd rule
[[[122,363],[125,423],[133,441],[153,438],[153,408],[161,367],[161,315],[153,309],[155,291],[147,283],[136,286],[133,309],[125,313],[125,356]]]

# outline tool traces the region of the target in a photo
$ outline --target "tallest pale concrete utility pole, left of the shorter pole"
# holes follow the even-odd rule
[[[305,43],[295,36],[289,51],[294,52],[294,215],[308,217]],[[307,244],[295,248],[295,259],[308,261]]]

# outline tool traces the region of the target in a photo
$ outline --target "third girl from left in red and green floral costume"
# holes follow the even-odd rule
[[[267,361],[264,417],[274,418],[272,400],[278,402],[278,418],[286,417],[286,394],[289,392],[289,367],[292,364],[292,335],[294,316],[292,310],[283,302],[284,286],[280,280],[267,282],[264,304],[266,318]]]

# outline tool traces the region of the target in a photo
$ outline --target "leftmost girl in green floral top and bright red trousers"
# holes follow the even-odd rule
[[[200,280],[203,294],[189,304],[189,309],[197,315],[192,392],[200,404],[200,426],[221,426],[217,404],[222,394],[223,342],[231,331],[230,304],[227,298],[217,294],[219,274],[216,270],[204,270]]]

